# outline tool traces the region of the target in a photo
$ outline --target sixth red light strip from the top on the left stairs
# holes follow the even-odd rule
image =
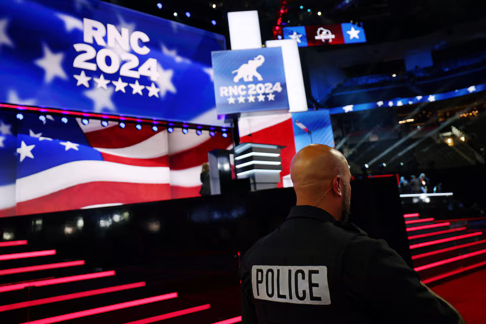
[[[165,294],[165,295],[160,295],[160,296],[154,296],[154,297],[132,300],[130,302],[125,302],[125,303],[119,303],[119,304],[114,304],[114,305],[109,305],[109,306],[103,306],[103,307],[98,307],[98,308],[93,308],[93,309],[82,310],[82,311],[79,311],[79,312],[74,312],[74,313],[69,313],[69,314],[64,314],[64,315],[59,315],[59,316],[54,316],[54,317],[32,320],[30,322],[25,322],[24,324],[27,324],[27,323],[29,323],[29,324],[57,323],[57,322],[60,322],[60,321],[63,321],[63,320],[85,317],[85,316],[110,312],[110,311],[113,311],[113,310],[118,310],[118,309],[123,309],[123,308],[128,308],[128,307],[134,307],[134,306],[140,306],[140,305],[144,305],[144,304],[148,304],[148,303],[155,303],[155,302],[159,302],[159,301],[167,300],[167,299],[171,299],[171,298],[176,298],[176,297],[177,297],[177,293],[170,293],[170,294]]]

